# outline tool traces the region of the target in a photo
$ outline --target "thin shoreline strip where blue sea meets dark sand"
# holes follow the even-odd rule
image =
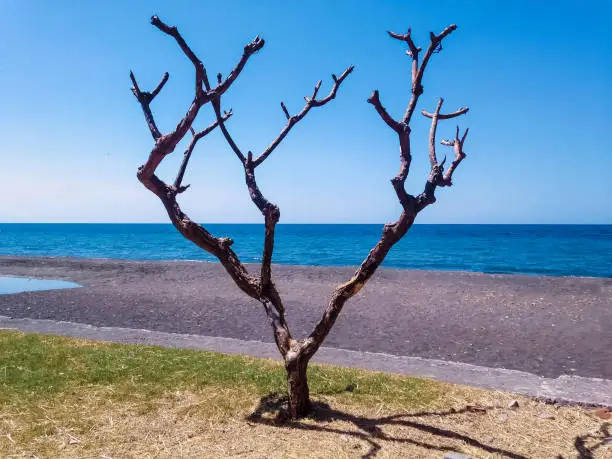
[[[24,260],[85,260],[85,261],[101,261],[110,263],[205,263],[212,265],[220,265],[218,261],[214,260],[193,260],[193,259],[167,259],[167,260],[152,260],[152,259],[140,259],[140,258],[105,258],[105,257],[78,257],[71,255],[11,255],[11,254],[0,254],[0,263],[5,260],[11,259],[24,259]],[[246,267],[259,267],[259,263],[243,263]],[[272,263],[272,266],[284,266],[288,268],[331,268],[331,269],[357,269],[359,265],[300,265],[300,264],[285,264],[285,263]],[[480,274],[485,276],[526,276],[526,277],[550,277],[559,279],[609,279],[612,280],[612,276],[577,276],[577,275],[555,275],[555,274],[539,274],[539,273],[528,273],[528,272],[486,272],[486,271],[472,271],[472,270],[457,270],[457,269],[419,269],[419,268],[394,268],[381,266],[377,269],[380,271],[399,271],[399,272],[440,272],[450,274]],[[0,273],[2,275],[2,273]]]

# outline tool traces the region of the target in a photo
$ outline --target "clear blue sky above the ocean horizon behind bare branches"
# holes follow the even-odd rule
[[[193,97],[193,68],[149,24],[177,25],[209,74],[227,74],[255,35],[264,49],[224,97],[240,146],[261,151],[317,80],[349,64],[335,101],[311,113],[258,169],[281,222],[384,222],[400,207],[396,136],[366,103],[378,88],[400,116],[410,59],[385,31],[458,30],[434,55],[420,109],[438,97],[468,105],[467,159],[455,186],[421,223],[612,223],[612,2],[603,1],[193,1],[2,2],[0,34],[0,221],[166,222],[136,180],[152,146],[129,70],[147,89],[170,73],[153,104],[162,131]],[[428,172],[428,123],[415,117],[408,191]],[[205,107],[196,127],[213,119]],[[453,120],[454,121],[454,120]],[[449,137],[455,123],[441,123]],[[443,147],[440,147],[442,149]],[[177,148],[160,168],[173,177]],[[450,152],[449,152],[450,153]],[[209,136],[194,154],[181,202],[203,222],[259,222],[242,166]]]

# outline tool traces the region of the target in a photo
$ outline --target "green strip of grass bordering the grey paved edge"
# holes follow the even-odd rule
[[[313,396],[366,404],[423,405],[442,392],[430,381],[324,365],[311,365],[308,378]],[[102,388],[117,399],[147,399],[207,386],[284,393],[285,372],[271,360],[0,331],[0,407]]]

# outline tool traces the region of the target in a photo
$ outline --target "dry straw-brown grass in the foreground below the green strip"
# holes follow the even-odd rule
[[[576,407],[447,386],[425,411],[350,396],[318,397],[316,414],[279,419],[282,399],[207,387],[151,400],[100,389],[0,414],[0,451],[14,457],[612,457],[610,424]],[[510,409],[516,399],[519,407]],[[554,419],[553,419],[554,418]]]

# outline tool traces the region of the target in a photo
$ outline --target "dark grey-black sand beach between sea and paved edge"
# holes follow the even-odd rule
[[[302,337],[353,269],[274,272],[293,334]],[[4,316],[272,342],[261,306],[218,264],[0,257],[0,275],[85,287],[0,295]],[[381,269],[325,345],[612,379],[612,279]]]

